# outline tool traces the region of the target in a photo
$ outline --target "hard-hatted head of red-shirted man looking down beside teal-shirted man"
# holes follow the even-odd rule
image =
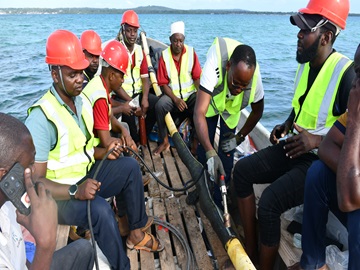
[[[110,90],[120,88],[128,64],[129,55],[124,45],[117,40],[110,41],[101,52],[101,74],[109,84]]]

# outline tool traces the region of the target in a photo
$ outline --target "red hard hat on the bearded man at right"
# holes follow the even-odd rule
[[[299,9],[299,12],[322,15],[344,30],[349,6],[349,0],[310,0],[307,7]]]

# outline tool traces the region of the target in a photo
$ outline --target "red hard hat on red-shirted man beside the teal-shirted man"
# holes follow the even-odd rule
[[[117,40],[110,41],[101,52],[101,57],[113,68],[126,74],[129,55],[124,45]]]

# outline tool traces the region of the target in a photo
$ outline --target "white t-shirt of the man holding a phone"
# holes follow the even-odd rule
[[[27,269],[25,243],[11,202],[0,208],[0,228],[0,269]]]

